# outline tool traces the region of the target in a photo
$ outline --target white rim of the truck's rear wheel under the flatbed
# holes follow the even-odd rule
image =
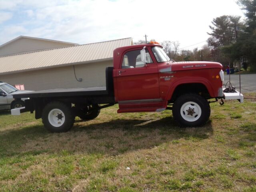
[[[48,121],[54,127],[60,127],[65,122],[65,115],[60,109],[52,109],[48,114]]]

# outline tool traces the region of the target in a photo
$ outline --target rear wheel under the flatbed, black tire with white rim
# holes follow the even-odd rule
[[[74,121],[71,107],[62,102],[50,102],[42,111],[42,122],[50,132],[67,132],[74,125]]]

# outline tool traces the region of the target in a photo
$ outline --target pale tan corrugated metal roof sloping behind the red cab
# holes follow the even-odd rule
[[[113,50],[132,44],[132,38],[54,48],[0,57],[0,74],[80,64],[113,57]]]

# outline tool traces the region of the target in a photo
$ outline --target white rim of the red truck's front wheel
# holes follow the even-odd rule
[[[193,122],[200,118],[202,110],[197,103],[189,101],[181,106],[180,114],[184,120]]]

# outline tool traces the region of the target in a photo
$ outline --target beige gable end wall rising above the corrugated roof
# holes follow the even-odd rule
[[[70,43],[54,42],[33,38],[20,38],[0,47],[0,56],[31,52],[35,50],[52,49],[73,46]]]

